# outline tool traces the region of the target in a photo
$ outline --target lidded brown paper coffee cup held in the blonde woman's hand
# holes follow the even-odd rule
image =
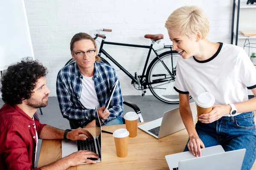
[[[198,112],[198,119],[201,114],[212,111],[212,106],[215,103],[215,98],[209,92],[198,94],[195,98],[196,108]]]

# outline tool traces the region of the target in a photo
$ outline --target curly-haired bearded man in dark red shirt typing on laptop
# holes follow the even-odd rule
[[[41,124],[37,108],[46,107],[50,93],[46,86],[47,69],[39,62],[26,59],[11,65],[3,73],[2,97],[5,104],[0,109],[0,169],[34,169],[38,139],[85,140],[78,128],[70,132]],[[65,135],[64,135],[65,133]],[[83,162],[95,163],[87,158],[98,158],[88,150],[73,153],[53,164],[37,169],[65,170]]]

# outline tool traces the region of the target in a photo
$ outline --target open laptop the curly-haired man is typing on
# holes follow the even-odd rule
[[[96,109],[97,112],[97,109]],[[88,158],[91,160],[95,160],[96,162],[101,161],[102,158],[102,150],[101,150],[101,143],[102,143],[102,127],[99,121],[99,114],[97,112],[96,114],[96,127],[95,127],[95,134],[96,136],[93,136],[93,139],[87,138],[86,140],[77,140],[77,141],[61,141],[61,156],[64,158],[65,156],[68,156],[74,152],[77,152],[79,150],[90,150],[99,155],[99,159],[95,158]],[[82,164],[87,164],[82,163]]]

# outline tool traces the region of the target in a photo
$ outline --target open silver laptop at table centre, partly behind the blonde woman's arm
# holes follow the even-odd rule
[[[193,120],[197,115],[195,102],[190,103]],[[138,126],[140,130],[154,136],[157,139],[185,129],[179,108],[163,113],[163,117]]]

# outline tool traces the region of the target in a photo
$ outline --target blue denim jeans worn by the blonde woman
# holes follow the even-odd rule
[[[241,170],[250,170],[256,159],[256,128],[254,113],[237,116],[223,116],[212,123],[195,125],[199,138],[205,147],[221,145],[225,151],[246,149]],[[184,151],[188,151],[186,145]]]

